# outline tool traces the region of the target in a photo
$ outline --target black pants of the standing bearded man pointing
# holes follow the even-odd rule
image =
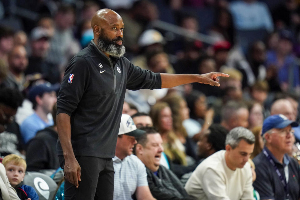
[[[65,200],[113,200],[114,170],[112,158],[76,156],[81,167],[78,188],[65,179]],[[64,158],[59,156],[60,167]]]

